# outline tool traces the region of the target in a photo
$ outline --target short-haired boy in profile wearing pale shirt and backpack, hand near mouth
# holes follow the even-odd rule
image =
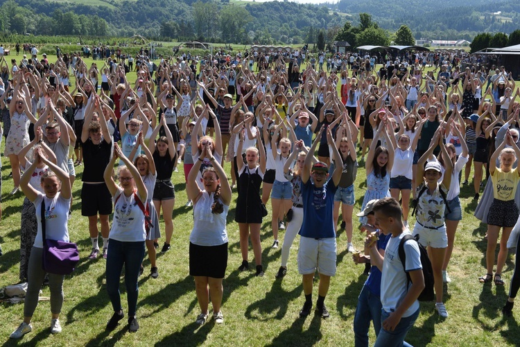
[[[370,260],[382,273],[381,276],[381,330],[376,339],[376,347],[401,346],[408,330],[419,316],[417,298],[424,289],[421,255],[419,245],[413,240],[404,243],[406,266],[399,258],[399,243],[410,230],[404,226],[402,211],[395,198],[382,198],[372,207],[376,228],[385,235],[392,234],[385,248],[384,258],[374,244],[367,238],[365,244],[370,248]],[[406,272],[405,272],[406,271]],[[410,275],[408,285],[406,273]]]

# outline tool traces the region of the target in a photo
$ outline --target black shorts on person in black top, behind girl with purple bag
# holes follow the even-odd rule
[[[112,195],[105,183],[87,184],[81,187],[81,215],[85,217],[112,213]]]

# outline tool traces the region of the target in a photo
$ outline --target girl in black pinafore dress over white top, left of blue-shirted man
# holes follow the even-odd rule
[[[242,146],[245,133],[241,131],[239,135],[239,148],[237,153],[242,153]],[[242,252],[242,264],[240,271],[249,269],[248,263],[248,237],[251,234],[253,245],[254,260],[257,264],[257,276],[263,276],[262,269],[262,249],[260,244],[260,226],[262,223],[262,201],[260,198],[260,186],[263,174],[266,172],[266,152],[261,146],[262,140],[257,128],[257,145],[245,151],[244,164],[242,160],[236,161],[239,169],[239,181],[243,189],[240,189],[239,197],[236,199],[235,221],[239,223],[240,229],[240,250]],[[260,160],[260,162],[259,162]]]

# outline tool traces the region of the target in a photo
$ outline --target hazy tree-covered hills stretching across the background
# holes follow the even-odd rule
[[[340,0],[321,5],[240,0],[0,0],[0,33],[144,35],[154,40],[232,43],[331,40],[361,12],[393,33],[406,24],[416,38],[471,40],[480,32],[520,28],[520,1]]]

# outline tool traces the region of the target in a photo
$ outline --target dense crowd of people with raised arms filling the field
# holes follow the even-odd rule
[[[197,61],[183,55],[157,65],[140,64],[135,81],[129,81],[121,56],[106,57],[101,70],[96,62],[88,67],[76,54],[67,62],[58,54],[52,63],[44,57],[35,60],[38,65],[22,60],[6,69],[6,79],[0,79],[3,155],[15,185],[10,194],[21,189],[26,196],[19,278],[29,284],[24,321],[11,337],[32,330],[43,282],[51,287],[51,332],[62,330],[64,277],[46,275],[39,266],[41,229],[47,223],[47,236],[69,240],[67,216],[78,165],[84,166],[81,214],[88,218],[92,240],[89,259],[106,259],[107,294],[114,309],[107,330],[125,316],[119,294],[123,265],[128,330],[139,329],[142,260],[146,250],[150,276],[158,278],[159,216],[162,212],[161,251],[168,252],[175,208],[171,178],[180,163],[186,206],[193,207],[189,273],[201,325],[211,317],[224,321],[226,220],[233,194],[242,255],[241,264],[233,266],[240,271],[249,269],[251,239],[255,276],[265,276],[260,233],[268,214],[272,248],[279,247],[279,230],[286,230],[275,275],[279,280],[291,268],[291,245],[300,235],[293,264],[302,275],[302,317],[313,307],[316,271],[316,312],[324,319],[330,315],[325,298],[336,274],[336,237],[340,228],[345,230],[347,251],[370,274],[354,319],[356,346],[368,344],[370,321],[377,346],[403,343],[419,314],[417,297],[425,286],[419,244],[428,248],[435,310],[444,319],[449,316],[443,285],[451,282],[449,260],[462,219],[460,185],[469,184],[471,170],[475,215],[488,226],[487,269],[478,280],[504,285],[508,240],[517,245],[520,230],[520,225],[514,228],[520,203],[520,103],[508,71],[461,71],[452,63],[456,60],[441,56],[436,74],[433,69],[426,73],[424,66],[435,61],[422,53],[385,57],[380,69],[370,56],[357,54],[323,54],[303,65],[304,54],[231,57],[219,52]],[[333,69],[329,61],[334,61]],[[352,242],[359,165],[365,166],[367,183],[356,213],[367,232],[365,244],[357,245],[363,253],[356,253]],[[409,222],[410,202],[415,225]],[[419,244],[410,234],[419,235]],[[374,235],[379,235],[377,241]],[[401,248],[406,254],[402,264]],[[506,315],[520,287],[519,273],[515,269]]]

